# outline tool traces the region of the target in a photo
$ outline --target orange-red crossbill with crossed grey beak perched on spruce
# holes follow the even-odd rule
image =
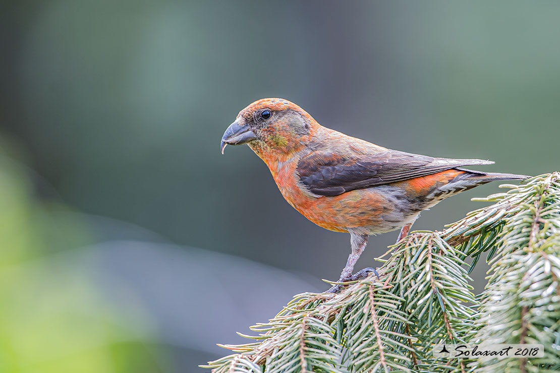
[[[283,98],[262,98],[239,112],[222,136],[226,145],[248,144],[267,164],[284,199],[313,223],[350,234],[350,254],[340,284],[352,275],[368,237],[400,229],[403,239],[421,211],[447,197],[491,181],[525,175],[473,171],[483,159],[428,157],[392,150],[320,125]],[[379,277],[379,275],[377,276]]]

